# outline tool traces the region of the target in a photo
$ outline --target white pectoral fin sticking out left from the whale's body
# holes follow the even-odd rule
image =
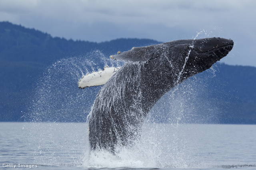
[[[120,67],[106,66],[101,71],[86,74],[78,81],[78,87],[86,88],[103,85],[119,70],[119,68]]]

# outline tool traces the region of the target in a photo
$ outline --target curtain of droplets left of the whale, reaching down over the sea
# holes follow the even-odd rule
[[[81,152],[90,150],[88,124],[68,123],[63,127],[63,124],[58,122],[87,121],[86,117],[101,87],[81,90],[77,82],[84,74],[100,70],[106,65],[121,66],[122,62],[108,60],[108,57],[100,51],[92,51],[85,56],[56,61],[38,77],[34,96],[28,103],[28,111],[25,115],[26,121],[32,123],[24,126],[28,129],[27,136],[30,137],[29,143],[35,164],[38,162],[50,166],[81,164]],[[75,129],[73,129],[74,125]],[[74,145],[65,145],[73,139],[72,136],[77,139],[73,141]],[[59,140],[67,142],[61,143]],[[66,156],[70,155],[70,162],[63,162],[63,158],[59,157],[62,150],[66,150]]]

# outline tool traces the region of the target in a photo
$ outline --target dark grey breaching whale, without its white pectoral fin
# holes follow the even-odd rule
[[[89,120],[91,149],[114,153],[116,148],[132,146],[154,104],[174,86],[228,55],[233,45],[231,39],[215,37],[176,40],[110,56],[127,62],[109,76],[94,101]],[[84,88],[79,82],[78,86]]]

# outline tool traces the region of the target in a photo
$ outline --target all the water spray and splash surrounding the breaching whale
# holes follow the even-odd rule
[[[201,33],[203,31],[198,33],[195,39]],[[86,117],[101,87],[80,90],[77,86],[78,80],[83,75],[98,71],[106,65],[122,66],[122,64],[122,62],[109,60],[100,51],[94,51],[87,56],[57,61],[38,77],[34,96],[29,104],[27,121],[86,122]],[[186,61],[184,66],[185,64]],[[215,69],[212,70],[215,71]],[[130,149],[120,148],[116,155],[104,151],[90,152],[87,123],[68,123],[64,125],[63,133],[57,131],[52,133],[59,129],[61,123],[28,123],[27,127],[30,127],[28,135],[31,136],[31,143],[33,143],[35,163],[98,168],[195,167],[198,164],[195,161],[196,156],[193,156],[194,152],[187,145],[192,141],[185,135],[184,126],[180,124],[208,123],[211,117],[205,118],[197,113],[205,111],[206,108],[212,109],[211,113],[216,112],[210,104],[207,106],[207,101],[204,101],[203,108],[200,109],[202,103],[197,99],[204,95],[202,89],[205,87],[198,85],[198,82],[200,80],[197,77],[190,78],[165,94],[150,111],[142,127],[142,136],[139,141]],[[67,133],[64,133],[65,131]],[[62,141],[72,140],[72,134],[76,136],[73,146],[56,142],[57,138]],[[63,162],[62,158],[56,156],[63,148],[68,148],[66,152],[67,155],[72,155],[71,162]]]

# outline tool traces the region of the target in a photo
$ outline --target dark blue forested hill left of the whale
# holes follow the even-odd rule
[[[35,29],[0,22],[0,121],[22,121],[22,110],[37,82],[52,63],[94,50],[107,56],[132,47],[157,44],[149,39],[116,39],[93,43],[52,37]]]

